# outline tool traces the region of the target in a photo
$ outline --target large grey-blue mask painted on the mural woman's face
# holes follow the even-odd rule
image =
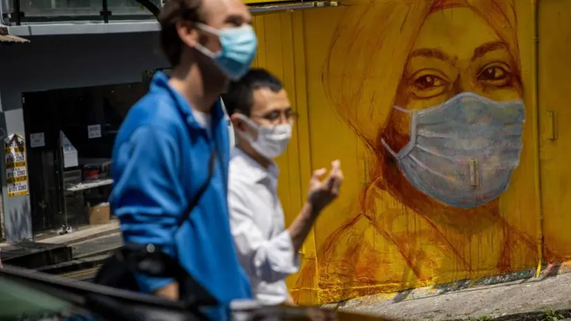
[[[429,109],[394,108],[411,114],[410,142],[398,153],[382,143],[417,190],[451,206],[474,208],[507,189],[522,147],[521,100],[460,93]]]

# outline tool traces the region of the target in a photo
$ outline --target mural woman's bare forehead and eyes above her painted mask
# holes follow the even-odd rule
[[[496,101],[521,98],[517,66],[507,44],[474,11],[450,8],[424,22],[395,104],[425,109],[464,91]]]

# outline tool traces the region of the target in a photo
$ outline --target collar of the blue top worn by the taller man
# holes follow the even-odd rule
[[[201,128],[200,124],[192,115],[189,102],[187,102],[187,100],[169,84],[169,77],[165,75],[165,73],[162,71],[157,71],[155,73],[153,80],[151,81],[151,88],[149,91],[151,91],[151,93],[168,93],[176,102],[176,107],[180,110],[182,115],[185,116],[189,125],[196,128]],[[211,115],[212,122],[216,122],[225,116],[220,99],[218,99],[214,104],[214,107],[212,107]]]

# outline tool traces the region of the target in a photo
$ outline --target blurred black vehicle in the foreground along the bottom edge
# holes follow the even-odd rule
[[[182,306],[162,297],[26,270],[0,268],[0,320],[205,320],[207,306]],[[319,308],[230,304],[232,320],[386,320]]]

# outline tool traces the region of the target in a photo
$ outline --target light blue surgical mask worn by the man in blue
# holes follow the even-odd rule
[[[256,56],[258,39],[250,25],[236,28],[215,29],[205,24],[197,23],[196,26],[207,33],[217,35],[220,40],[221,50],[212,53],[208,48],[196,45],[196,49],[216,62],[218,68],[232,80],[237,80],[247,73]]]

